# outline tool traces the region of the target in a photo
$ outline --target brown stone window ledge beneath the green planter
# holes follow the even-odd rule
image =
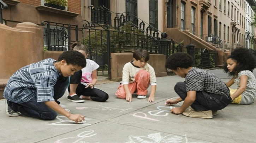
[[[67,15],[67,16],[70,16],[70,17],[77,17],[79,15],[78,13],[64,11],[64,10],[60,10],[60,9],[56,9],[56,8],[52,8],[52,7],[48,7],[48,6],[41,6],[41,5],[36,6],[36,10],[37,11],[52,12],[52,13]]]

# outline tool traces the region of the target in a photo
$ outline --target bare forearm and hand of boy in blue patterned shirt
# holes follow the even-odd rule
[[[60,113],[61,115],[69,118],[72,121],[75,121],[75,122],[85,121],[84,116],[79,115],[79,114],[71,114],[71,113],[67,112],[55,101],[47,101],[47,102],[44,102],[44,104],[46,104],[50,109]]]

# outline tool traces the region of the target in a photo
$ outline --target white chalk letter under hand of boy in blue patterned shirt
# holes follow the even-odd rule
[[[67,117],[65,117],[65,116],[57,116],[56,119],[58,119],[59,122],[51,123],[49,125],[91,125],[91,124],[86,122],[87,120],[90,120],[89,118],[85,118],[85,121],[78,122],[78,123],[76,123],[75,121],[71,121],[69,119],[66,120]]]

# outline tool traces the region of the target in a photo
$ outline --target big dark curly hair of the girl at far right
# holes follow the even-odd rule
[[[248,48],[236,48],[227,59],[232,59],[236,61],[237,66],[233,69],[232,72],[229,72],[227,69],[227,63],[223,65],[224,72],[229,76],[235,76],[240,71],[249,70],[253,71],[256,67],[256,57],[252,54]]]

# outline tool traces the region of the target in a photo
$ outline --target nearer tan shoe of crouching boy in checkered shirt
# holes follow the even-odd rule
[[[208,110],[208,111],[190,110],[190,111],[184,111],[182,114],[187,117],[194,117],[194,118],[206,118],[206,119],[213,118],[212,110]]]

